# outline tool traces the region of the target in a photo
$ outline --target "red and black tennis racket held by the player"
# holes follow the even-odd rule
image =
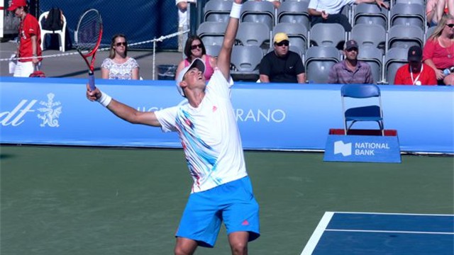
[[[90,89],[94,91],[94,61],[96,59],[96,50],[102,38],[102,19],[99,11],[89,9],[85,11],[79,18],[75,40],[77,42],[77,51],[85,60],[88,67],[88,83]],[[92,60],[89,60],[92,57]]]

